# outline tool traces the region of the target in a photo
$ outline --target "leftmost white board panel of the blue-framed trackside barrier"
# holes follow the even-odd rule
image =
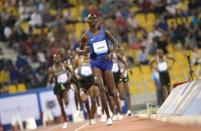
[[[37,95],[23,94],[18,96],[4,97],[0,99],[0,120],[2,124],[10,124],[14,115],[18,114],[22,121],[34,117],[40,119],[39,103]]]

